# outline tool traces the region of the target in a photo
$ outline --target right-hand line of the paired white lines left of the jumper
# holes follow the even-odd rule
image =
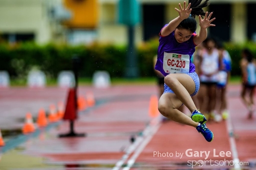
[[[152,139],[154,134],[157,132],[159,127],[160,127],[160,122],[157,122],[151,127],[151,133],[149,133],[148,136],[146,136],[145,140],[140,144],[138,149],[134,152],[133,156],[131,156],[131,159],[127,161],[126,167],[124,167],[122,170],[130,170],[130,168],[133,166],[134,162],[136,161],[140,153],[144,150],[148,142],[150,142],[150,140]]]

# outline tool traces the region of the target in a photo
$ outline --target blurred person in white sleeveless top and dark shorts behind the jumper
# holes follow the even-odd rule
[[[218,71],[221,65],[221,54],[216,48],[214,39],[207,37],[204,40],[204,49],[199,54],[199,79],[200,89],[198,92],[199,108],[208,121],[214,119],[220,121],[218,114],[215,114],[216,86],[218,82]]]

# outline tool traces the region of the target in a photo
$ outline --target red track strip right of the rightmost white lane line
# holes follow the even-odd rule
[[[229,90],[229,108],[233,126],[233,138],[239,161],[248,161],[250,166],[256,168],[256,113],[253,119],[247,119],[247,109],[241,98],[241,85],[233,85]],[[256,101],[256,99],[255,99]]]

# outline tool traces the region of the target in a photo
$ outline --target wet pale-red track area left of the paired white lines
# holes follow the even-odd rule
[[[58,88],[34,90],[10,88],[6,90],[2,96],[4,102],[0,105],[6,107],[6,111],[12,110],[12,107],[5,103],[12,103],[12,106],[19,107],[18,112],[17,109],[12,111],[9,125],[15,125],[17,119],[22,119],[27,111],[33,110],[32,114],[36,118],[39,108],[47,109],[53,101],[57,103],[60,98],[67,97],[67,91]],[[81,111],[79,119],[75,122],[76,133],[86,133],[86,137],[58,138],[59,134],[68,133],[70,130],[69,122],[59,122],[57,127],[50,130],[41,129],[38,137],[32,137],[32,135],[28,137],[26,142],[20,144],[19,148],[22,148],[22,152],[18,151],[18,154],[24,157],[43,158],[41,163],[44,166],[68,168],[74,165],[80,169],[89,167],[95,170],[99,170],[100,167],[104,169],[114,167],[115,163],[125,154],[125,150],[130,147],[131,136],[140,136],[150,122],[149,100],[151,95],[157,94],[157,87],[152,85],[122,85],[108,89],[80,87],[79,95],[85,95],[92,91],[96,99],[96,106]],[[21,100],[23,100],[22,105],[18,104]],[[30,103],[29,108],[24,107],[26,103]],[[4,124],[3,121],[3,127],[5,127]],[[20,123],[18,127],[22,128],[22,125]],[[6,141],[6,145],[10,145],[8,141]],[[9,164],[7,157],[8,154],[4,153],[0,169],[6,167],[13,169],[15,164],[18,164],[16,160],[12,160],[12,164]],[[43,165],[39,164],[38,166],[42,167]],[[25,169],[39,168],[35,167],[35,164],[33,167],[31,166],[27,165]],[[44,167],[44,169],[52,170],[54,168]]]

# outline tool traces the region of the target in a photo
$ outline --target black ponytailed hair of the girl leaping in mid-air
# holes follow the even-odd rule
[[[201,17],[204,18],[206,13],[203,8],[209,6],[209,0],[204,0],[203,2],[202,1],[203,0],[189,0],[189,3],[191,3],[190,8],[192,8],[192,11],[190,13],[191,16],[181,21],[177,28],[188,29],[191,32],[196,31],[197,23],[195,17],[201,15]]]

